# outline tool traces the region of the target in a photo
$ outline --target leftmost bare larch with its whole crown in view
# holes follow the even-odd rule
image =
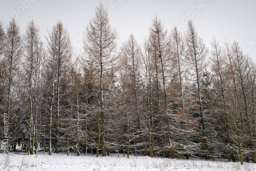
[[[17,117],[13,111],[15,105],[15,96],[18,92],[15,91],[15,82],[17,81],[17,74],[19,70],[19,62],[22,58],[22,37],[20,36],[19,27],[17,26],[14,18],[11,20],[7,27],[6,44],[4,49],[4,71],[5,74],[5,99],[4,105],[8,116],[9,124],[9,139],[15,141],[15,130],[19,126],[16,126]],[[15,144],[16,142],[10,142]]]

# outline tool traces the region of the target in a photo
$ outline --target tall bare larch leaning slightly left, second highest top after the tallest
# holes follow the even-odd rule
[[[167,30],[164,29],[163,24],[160,19],[157,17],[154,18],[152,27],[150,29],[150,53],[154,61],[154,70],[155,70],[155,79],[156,79],[156,90],[158,96],[158,108],[160,113],[163,115],[165,123],[166,123],[166,131],[168,135],[167,145],[169,154],[172,158],[174,158],[173,146],[171,145],[171,133],[170,133],[170,125],[169,125],[169,110],[167,108],[167,73],[168,73],[168,57],[169,57],[169,49],[168,49],[168,39],[167,39]],[[163,92],[161,95],[160,92]],[[161,103],[161,100],[163,103]],[[165,146],[163,144],[163,146]],[[164,154],[166,155],[166,154]]]

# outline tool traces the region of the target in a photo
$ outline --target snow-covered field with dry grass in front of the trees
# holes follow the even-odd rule
[[[129,159],[121,154],[118,158],[117,154],[111,154],[108,157],[96,156],[67,156],[64,153],[52,154],[39,153],[38,155],[26,154],[10,154],[10,167],[4,168],[4,153],[0,154],[0,171],[2,170],[100,170],[100,171],[126,171],[126,170],[218,170],[218,171],[234,171],[234,170],[256,170],[256,164],[239,162],[233,163],[228,161],[209,161],[197,158],[183,159],[166,159],[166,158],[150,158],[143,156],[130,156]],[[218,159],[217,159],[218,160]]]

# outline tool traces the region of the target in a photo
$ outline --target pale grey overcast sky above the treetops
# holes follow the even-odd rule
[[[171,30],[177,25],[183,33],[186,22],[193,20],[196,30],[210,48],[215,35],[233,42],[236,40],[248,55],[256,61],[256,1],[253,0],[101,0],[109,10],[110,24],[123,42],[133,33],[138,41],[148,34],[152,18],[157,16]],[[99,1],[95,0],[0,0],[0,20],[6,27],[10,18],[22,33],[27,23],[34,20],[41,34],[61,19],[68,28],[72,44],[81,50],[84,30],[95,15]]]

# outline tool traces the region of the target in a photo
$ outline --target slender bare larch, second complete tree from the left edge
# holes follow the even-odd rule
[[[42,44],[39,36],[39,29],[34,25],[33,20],[28,24],[24,35],[25,50],[25,79],[29,98],[29,143],[28,154],[34,154],[35,128],[38,115]]]

